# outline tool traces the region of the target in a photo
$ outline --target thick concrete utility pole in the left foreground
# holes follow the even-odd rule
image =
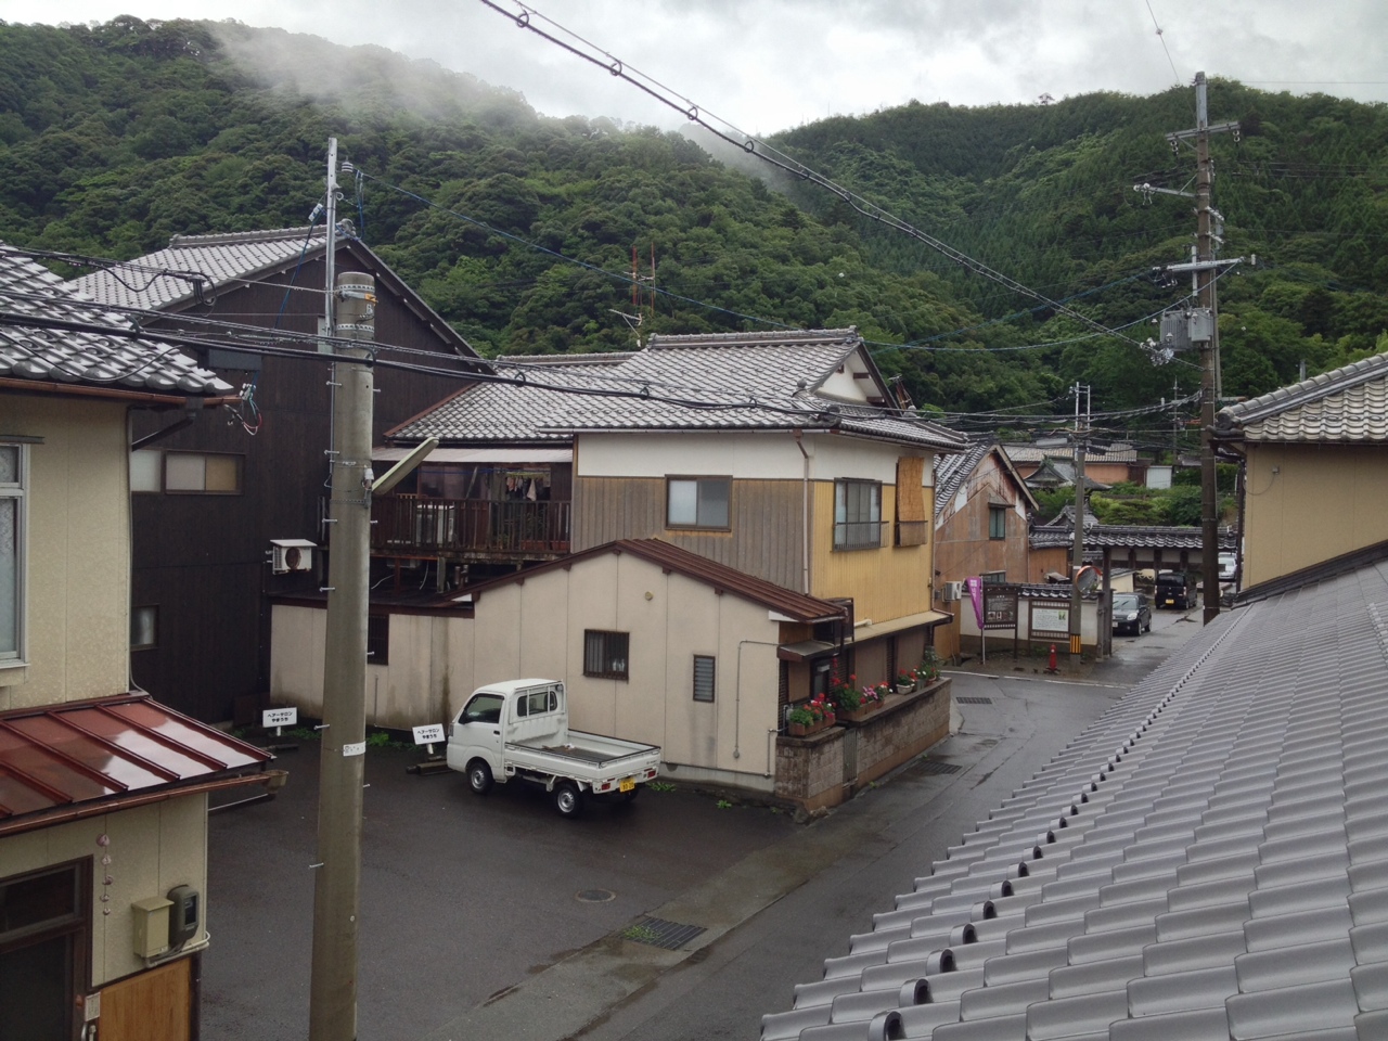
[[[337,140],[328,147],[328,271],[333,271]],[[375,339],[375,279],[344,272],[328,286],[328,328]],[[339,307],[340,304],[340,307]],[[371,533],[372,369],[369,347],[340,347],[332,366],[333,447],[328,523],[328,637],[318,795],[318,872],[310,1041],[357,1037],[357,931],[361,904],[361,806],[366,762],[366,597]],[[350,361],[348,361],[350,359]]]

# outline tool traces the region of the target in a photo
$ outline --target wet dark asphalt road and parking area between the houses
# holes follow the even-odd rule
[[[405,775],[418,752],[371,750],[358,1037],[756,1037],[794,984],[1192,636],[1184,618],[1156,612],[1152,633],[1116,637],[1115,658],[1077,676],[1010,655],[951,673],[959,731],[808,826],[686,786],[568,822],[529,788],[477,798],[458,775]],[[316,747],[276,765],[291,777],[275,802],[211,820],[207,1041],[308,1033]],[[662,949],[643,942],[645,916],[704,931]]]

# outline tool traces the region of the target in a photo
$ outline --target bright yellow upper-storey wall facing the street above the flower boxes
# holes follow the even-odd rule
[[[883,545],[876,550],[834,550],[834,483],[813,483],[811,509],[812,595],[852,597],[854,618],[887,622],[904,615],[930,611],[933,541],[923,545],[891,544],[891,523],[883,525]],[[926,507],[934,509],[933,490],[924,489]],[[881,489],[881,515],[897,515],[897,489]],[[930,515],[927,512],[927,516]],[[823,518],[819,520],[819,518]]]

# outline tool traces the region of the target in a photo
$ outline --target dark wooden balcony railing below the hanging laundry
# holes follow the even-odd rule
[[[557,557],[569,551],[570,505],[387,496],[371,504],[371,551],[384,557],[471,559]]]

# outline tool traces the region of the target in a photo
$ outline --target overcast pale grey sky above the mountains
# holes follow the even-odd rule
[[[754,135],[911,99],[1151,94],[1198,69],[1267,90],[1388,101],[1384,0],[539,0],[536,10]],[[0,0],[10,22],[118,14],[236,18],[378,43],[519,90],[548,115],[683,122],[480,0]],[[1212,105],[1212,119],[1223,115]]]

